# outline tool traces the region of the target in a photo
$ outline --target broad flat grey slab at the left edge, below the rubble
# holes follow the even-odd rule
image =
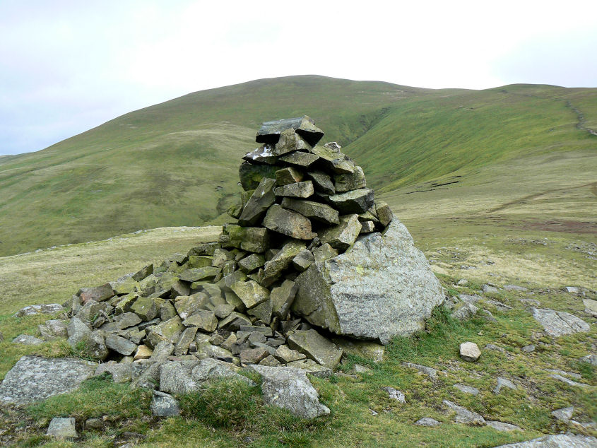
[[[28,404],[65,394],[93,377],[95,362],[23,356],[0,384],[0,403]]]

